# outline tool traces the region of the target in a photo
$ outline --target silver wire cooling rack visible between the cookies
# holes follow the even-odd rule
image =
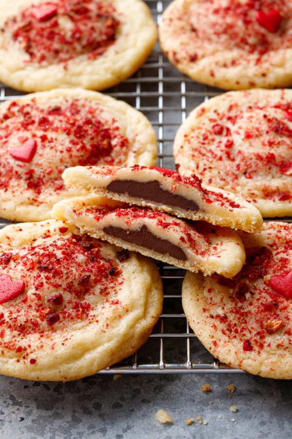
[[[146,1],[157,23],[169,3]],[[171,66],[157,42],[135,75],[104,93],[128,102],[145,114],[158,140],[157,165],[175,169],[172,145],[179,126],[191,110],[222,90],[206,87],[183,76]],[[18,91],[0,84],[0,102],[19,96]],[[0,227],[3,227],[8,221],[0,222]],[[242,372],[220,364],[190,329],[181,300],[184,270],[158,261],[157,265],[163,279],[164,306],[151,336],[133,356],[99,374]]]

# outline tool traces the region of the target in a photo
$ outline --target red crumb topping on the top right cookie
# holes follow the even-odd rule
[[[290,48],[292,35],[285,23],[292,18],[289,1],[218,0],[188,2],[188,9],[177,18],[175,37],[189,39],[190,44],[173,52],[174,60],[200,60],[206,53],[216,50],[237,50],[249,54],[263,54]],[[199,4],[198,4],[199,3]],[[173,17],[169,17],[172,26]],[[211,48],[211,50],[210,50]],[[240,59],[233,60],[233,66]]]

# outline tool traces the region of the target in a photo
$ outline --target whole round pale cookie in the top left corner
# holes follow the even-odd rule
[[[0,80],[27,92],[111,87],[157,40],[142,0],[0,0],[0,7]]]

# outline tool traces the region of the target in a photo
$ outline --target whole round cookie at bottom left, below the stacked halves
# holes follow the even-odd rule
[[[133,354],[163,302],[156,265],[57,220],[0,231],[0,373],[68,381]]]

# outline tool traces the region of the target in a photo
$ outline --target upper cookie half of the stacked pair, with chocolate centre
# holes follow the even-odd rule
[[[153,166],[75,166],[65,169],[65,185],[114,200],[151,207],[180,218],[204,220],[247,232],[263,220],[256,207],[232,193],[208,190],[192,175]]]

